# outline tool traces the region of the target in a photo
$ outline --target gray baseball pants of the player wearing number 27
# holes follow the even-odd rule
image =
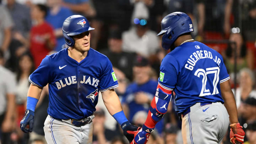
[[[182,118],[183,144],[220,144],[228,126],[229,115],[222,103],[196,103]]]

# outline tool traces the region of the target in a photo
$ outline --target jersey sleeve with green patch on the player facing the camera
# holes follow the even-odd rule
[[[113,71],[113,66],[109,59],[106,60],[106,66],[103,67],[103,74],[100,78],[99,89],[101,92],[118,87],[117,77]]]

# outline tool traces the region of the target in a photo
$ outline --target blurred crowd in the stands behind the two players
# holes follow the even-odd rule
[[[48,54],[66,48],[62,24],[84,15],[94,31],[91,48],[113,64],[115,89],[128,120],[142,126],[158,85],[162,18],[187,13],[192,36],[222,54],[235,94],[245,144],[256,144],[256,0],[0,0],[0,139],[1,144],[46,144],[48,87],[34,115],[34,130],[25,134],[20,121],[26,109],[29,75]],[[101,95],[99,95],[101,97]],[[93,119],[93,144],[128,144],[99,98]],[[229,132],[222,144],[228,144]],[[181,121],[172,99],[148,144],[182,144]]]

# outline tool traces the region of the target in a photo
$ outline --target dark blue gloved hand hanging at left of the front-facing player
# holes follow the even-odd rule
[[[32,132],[34,123],[34,112],[31,110],[26,110],[25,116],[20,122],[20,128],[24,133]],[[29,125],[29,128],[26,128]]]

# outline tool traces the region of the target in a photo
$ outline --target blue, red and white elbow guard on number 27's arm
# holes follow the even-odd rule
[[[167,93],[161,88],[156,90],[155,97],[153,98],[149,109],[151,112],[151,117],[154,121],[160,121],[164,114],[167,112],[167,107],[171,101],[171,92],[169,91]]]

